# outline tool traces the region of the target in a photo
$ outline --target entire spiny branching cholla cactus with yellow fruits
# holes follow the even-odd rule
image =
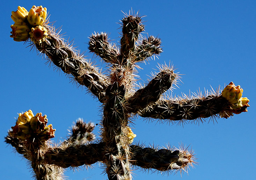
[[[242,97],[243,90],[234,83],[222,93],[217,91],[185,99],[162,98],[163,93],[176,85],[180,78],[173,67],[166,65],[160,66],[159,73],[148,84],[135,90],[136,63],[162,52],[161,39],[140,35],[145,26],[138,14],[126,14],[122,19],[119,47],[109,43],[107,33],[94,33],[89,37],[90,52],[108,63],[109,75],[83,58],[54,27],[48,25],[46,14],[46,8],[42,6],[33,6],[29,12],[19,6],[12,13],[15,24],[11,26],[10,37],[15,41],[30,38],[31,45],[38,52],[45,54],[74,82],[87,87],[102,103],[103,114],[98,141],[93,141],[94,125],[78,120],[71,136],[59,146],[49,143],[48,139],[54,137],[55,130],[52,125],[46,126],[46,115],[37,113],[34,116],[31,110],[20,114],[6,142],[32,162],[37,179],[61,179],[61,168],[90,166],[96,162],[104,164],[109,180],[132,179],[132,166],[160,172],[183,171],[195,163],[193,151],[132,144],[136,135],[129,126],[131,117],[139,115],[152,120],[183,122],[209,117],[229,118],[233,113],[247,112],[249,100]],[[19,36],[17,30],[20,30]]]

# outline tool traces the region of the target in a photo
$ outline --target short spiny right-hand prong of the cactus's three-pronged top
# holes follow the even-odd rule
[[[160,54],[162,51],[161,39],[149,36],[148,39],[143,39],[142,44],[138,45],[136,52],[134,52],[135,59],[133,62],[140,62],[154,54]]]

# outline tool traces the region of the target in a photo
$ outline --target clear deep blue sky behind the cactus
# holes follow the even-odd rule
[[[176,147],[190,145],[196,153],[198,165],[181,175],[143,173],[134,171],[134,179],[195,179],[229,180],[255,178],[255,60],[256,60],[256,2],[247,1],[5,1],[1,6],[1,179],[27,180],[31,177],[26,160],[4,137],[14,126],[17,113],[31,109],[34,114],[47,114],[49,123],[57,129],[55,142],[67,136],[67,129],[78,118],[98,123],[99,106],[86,90],[77,89],[65,75],[54,72],[45,65],[37,53],[25,48],[22,42],[14,42],[10,35],[11,12],[17,6],[30,9],[33,5],[47,7],[50,20],[62,26],[66,38],[74,39],[75,46],[86,51],[88,59],[99,66],[105,63],[93,57],[87,50],[88,37],[94,32],[107,32],[109,38],[119,40],[117,24],[123,12],[132,8],[147,15],[143,18],[148,35],[162,39],[163,53],[159,59],[141,63],[140,82],[156,69],[157,63],[173,63],[182,75],[176,95],[215,89],[233,81],[244,89],[243,97],[250,99],[247,113],[233,118],[218,119],[218,123],[169,126],[143,119],[134,120],[136,141],[144,144]],[[147,36],[147,34],[145,34]],[[98,135],[98,128],[94,133]],[[107,179],[98,164],[93,169],[65,175],[71,180]]]

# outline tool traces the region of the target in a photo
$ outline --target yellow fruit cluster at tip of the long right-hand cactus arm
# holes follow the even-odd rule
[[[228,100],[229,105],[233,109],[233,113],[240,114],[247,112],[250,105],[247,97],[242,97],[243,89],[240,85],[235,86],[233,82],[229,83],[221,92],[221,96]]]

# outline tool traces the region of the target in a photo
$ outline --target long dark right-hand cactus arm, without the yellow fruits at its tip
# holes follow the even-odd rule
[[[210,95],[204,98],[183,100],[160,100],[138,113],[141,117],[153,119],[195,120],[219,115],[228,118],[231,108],[225,98]]]

